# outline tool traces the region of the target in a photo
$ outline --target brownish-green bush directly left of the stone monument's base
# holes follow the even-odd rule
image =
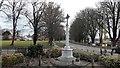
[[[47,57],[51,57],[51,58],[57,58],[60,57],[62,53],[62,49],[61,48],[55,48],[55,49],[48,49],[46,52]]]

